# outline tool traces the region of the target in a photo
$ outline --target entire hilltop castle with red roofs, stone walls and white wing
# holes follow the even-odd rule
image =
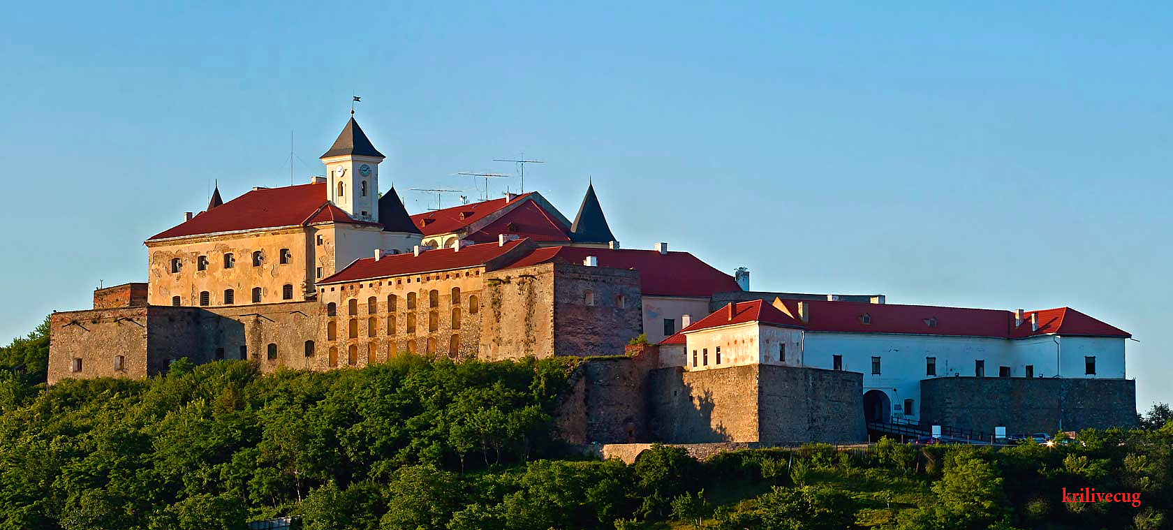
[[[262,371],[589,358],[567,440],[853,442],[869,433],[1135,423],[1131,335],[1069,307],[750,291],[689,252],[622,249],[592,185],[574,220],[538,192],[409,215],[353,117],[326,176],[255,188],[147,239],[148,280],[52,315],[49,383],[170,362]],[[637,337],[646,345],[629,346]]]

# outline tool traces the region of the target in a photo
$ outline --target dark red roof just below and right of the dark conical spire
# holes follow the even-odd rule
[[[550,246],[535,250],[509,267],[549,261],[582,264],[588,256],[597,257],[601,267],[639,271],[639,287],[645,295],[707,298],[713,293],[741,291],[732,276],[687,252],[662,254],[655,250]]]

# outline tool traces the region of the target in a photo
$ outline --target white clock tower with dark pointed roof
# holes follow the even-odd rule
[[[334,145],[321,155],[326,164],[326,198],[358,220],[379,220],[379,152],[351,116]]]

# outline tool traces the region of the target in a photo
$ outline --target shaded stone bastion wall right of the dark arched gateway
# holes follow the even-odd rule
[[[1060,424],[1062,421],[1062,424]],[[1127,379],[935,378],[921,381],[921,422],[1008,434],[1137,426]]]

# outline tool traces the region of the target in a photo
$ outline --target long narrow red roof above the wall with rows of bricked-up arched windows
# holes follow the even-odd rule
[[[514,239],[503,246],[496,243],[482,243],[480,245],[462,246],[460,251],[455,249],[438,249],[426,251],[420,256],[415,256],[414,253],[384,256],[379,260],[375,260],[374,257],[362,258],[354,260],[354,263],[347,265],[341,271],[318,281],[318,285],[473,267],[484,265],[517,247],[522,247],[521,251],[524,252],[524,245],[533,245],[533,242],[529,239]]]

